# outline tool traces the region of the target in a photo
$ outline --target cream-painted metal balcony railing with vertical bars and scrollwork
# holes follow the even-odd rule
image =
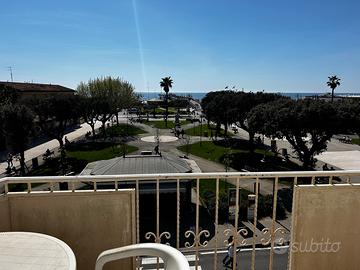
[[[111,189],[116,192],[119,190],[119,185],[127,183],[132,184],[132,187],[135,188],[136,193],[136,242],[140,243],[142,241],[153,241],[155,243],[166,243],[168,241],[172,242],[172,245],[181,250],[187,251],[192,250],[195,253],[195,269],[200,269],[199,266],[199,255],[200,251],[211,248],[214,251],[213,257],[213,269],[218,269],[218,254],[219,251],[225,249],[227,245],[226,238],[232,236],[234,239],[234,255],[238,247],[250,247],[251,248],[251,269],[255,269],[256,265],[256,246],[263,245],[269,247],[269,260],[268,268],[273,269],[274,267],[274,250],[276,245],[279,243],[284,243],[289,239],[284,239],[283,235],[285,229],[282,226],[279,226],[277,221],[277,211],[278,211],[278,191],[279,186],[282,185],[283,181],[287,181],[287,187],[291,190],[293,185],[299,184],[309,184],[309,185],[334,185],[337,183],[351,185],[353,179],[360,179],[360,170],[353,171],[292,171],[292,172],[227,172],[227,173],[188,173],[188,174],[138,174],[138,175],[112,175],[112,176],[45,176],[45,177],[8,177],[0,180],[0,185],[4,186],[4,194],[11,194],[10,187],[13,184],[25,184],[26,190],[24,193],[29,194],[35,193],[37,191],[33,190],[34,184],[46,184],[47,192],[58,192],[57,185],[59,183],[68,183],[69,190],[71,192],[78,192],[76,186],[81,183],[91,183],[91,189],[93,192],[99,191],[101,185],[107,183],[112,185]],[[188,209],[183,209],[183,201],[181,200],[181,184],[184,181],[192,180],[192,191],[195,193],[195,200],[193,201],[194,206],[194,222],[191,228],[184,228],[184,212],[189,212]],[[269,181],[271,180],[271,181]],[[201,183],[202,181],[211,181],[214,183],[214,194],[215,194],[215,209],[214,214],[211,220],[211,226],[213,226],[213,231],[209,228],[204,228],[201,225],[201,214],[200,207],[202,205],[202,200],[200,198],[201,194]],[[226,230],[220,231],[219,223],[219,214],[220,213],[220,185],[221,181],[230,182],[234,185],[235,188],[235,214],[234,214],[234,226]],[[249,225],[248,230],[241,228],[239,225],[242,220],[239,217],[239,212],[241,208],[240,190],[243,184],[246,181],[252,181],[254,184],[254,189],[252,194],[255,195],[254,202],[254,212],[253,218],[247,221]],[[271,183],[272,187],[272,213],[269,215],[268,219],[271,220],[269,226],[264,228],[257,229],[259,223],[259,201],[261,199],[260,187],[264,183]],[[154,186],[153,190],[155,193],[155,216],[154,218],[154,230],[153,231],[144,231],[140,222],[140,213],[141,213],[141,190],[144,185],[151,183]],[[161,227],[163,223],[161,222],[161,216],[164,215],[164,210],[161,205],[161,192],[162,186],[168,185],[171,183],[175,186],[176,192],[174,192],[174,197],[176,197],[176,217],[174,217],[176,225],[174,229],[169,231],[162,231]],[[69,191],[67,191],[69,192]],[[292,196],[292,194],[290,194]],[[185,206],[187,207],[187,206]],[[184,211],[185,210],[185,211]],[[162,212],[163,211],[163,212]],[[191,217],[192,218],[192,217]],[[246,237],[249,234],[249,229],[253,230],[252,235]],[[260,233],[259,233],[260,230]],[[257,233],[255,233],[257,231]],[[259,235],[260,234],[260,235]],[[210,239],[211,237],[211,239]],[[260,239],[259,239],[260,238]],[[224,241],[225,239],[225,241]],[[211,246],[209,242],[211,240]],[[238,260],[237,256],[233,256],[233,269],[236,269],[236,261]]]

